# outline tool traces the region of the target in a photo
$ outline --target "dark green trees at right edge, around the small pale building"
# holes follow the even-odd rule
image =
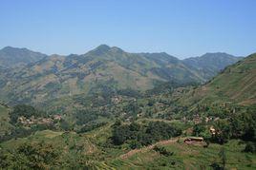
[[[224,144],[231,139],[240,139],[247,143],[245,151],[256,153],[256,108],[246,107],[241,112],[225,115],[214,123],[199,123],[194,126],[193,135],[203,136],[210,142]],[[207,126],[215,128],[215,135],[209,133]]]

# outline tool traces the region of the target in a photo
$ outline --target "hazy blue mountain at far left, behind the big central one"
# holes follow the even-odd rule
[[[4,47],[0,50],[0,67],[24,66],[39,61],[45,54],[27,48]]]

